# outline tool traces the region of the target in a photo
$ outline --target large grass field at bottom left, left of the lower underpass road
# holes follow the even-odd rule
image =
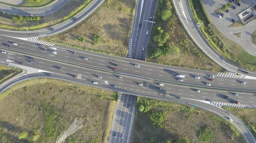
[[[84,126],[65,142],[107,143],[116,105],[113,94],[52,79],[16,84],[1,94],[0,142],[54,143],[75,118],[84,118]]]

